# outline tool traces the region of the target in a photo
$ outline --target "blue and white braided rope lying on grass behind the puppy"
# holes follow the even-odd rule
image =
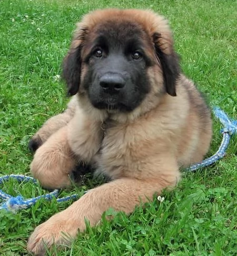
[[[226,115],[222,110],[219,108],[215,108],[213,110],[214,114],[222,125],[224,126],[223,129],[221,129],[221,133],[223,134],[223,139],[221,142],[221,145],[218,149],[218,151],[208,159],[203,160],[201,163],[194,164],[190,166],[190,168],[187,168],[186,171],[195,171],[201,167],[208,166],[210,164],[213,164],[214,162],[218,161],[225,155],[225,151],[228,147],[228,144],[230,142],[230,136],[234,133],[237,133],[237,120],[231,120],[229,119],[228,115]],[[36,180],[32,177],[28,177],[25,175],[6,175],[0,178],[0,185],[4,183],[4,181],[8,181],[10,178],[16,179],[18,182],[29,182],[32,181],[33,183],[36,183]],[[0,190],[0,199],[5,200],[5,202],[0,205],[0,210],[5,209],[7,211],[11,211],[13,213],[17,212],[18,210],[21,209],[26,209],[29,208],[31,205],[35,204],[38,200],[40,199],[46,199],[46,200],[52,200],[52,198],[57,198],[59,194],[59,190],[54,190],[51,193],[45,194],[45,195],[40,195],[37,196],[36,198],[31,198],[31,199],[24,199],[23,196],[18,195],[18,196],[12,196],[9,194],[4,193],[2,190]],[[64,202],[67,200],[73,200],[77,199],[78,195],[73,194],[73,195],[68,195],[63,198],[57,198],[56,201],[58,203]]]

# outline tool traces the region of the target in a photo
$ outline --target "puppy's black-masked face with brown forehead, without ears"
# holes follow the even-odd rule
[[[88,35],[82,62],[87,74],[81,86],[97,109],[132,111],[150,92],[146,54],[151,42],[132,22],[103,23]]]

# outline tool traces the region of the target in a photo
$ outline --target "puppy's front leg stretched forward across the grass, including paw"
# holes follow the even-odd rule
[[[175,183],[175,175],[173,179],[161,175],[159,179],[149,181],[118,179],[92,189],[66,210],[39,225],[29,238],[27,249],[36,255],[44,255],[45,247],[68,244],[78,231],[83,232],[85,219],[95,225],[100,221],[102,213],[110,207],[131,213],[135,205],[152,199],[154,193],[160,193]]]

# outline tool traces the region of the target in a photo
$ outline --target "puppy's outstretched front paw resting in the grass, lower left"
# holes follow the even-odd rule
[[[84,229],[64,212],[57,213],[49,220],[39,225],[27,243],[27,250],[34,255],[45,255],[46,249],[52,245],[68,245],[76,237],[78,229]]]

